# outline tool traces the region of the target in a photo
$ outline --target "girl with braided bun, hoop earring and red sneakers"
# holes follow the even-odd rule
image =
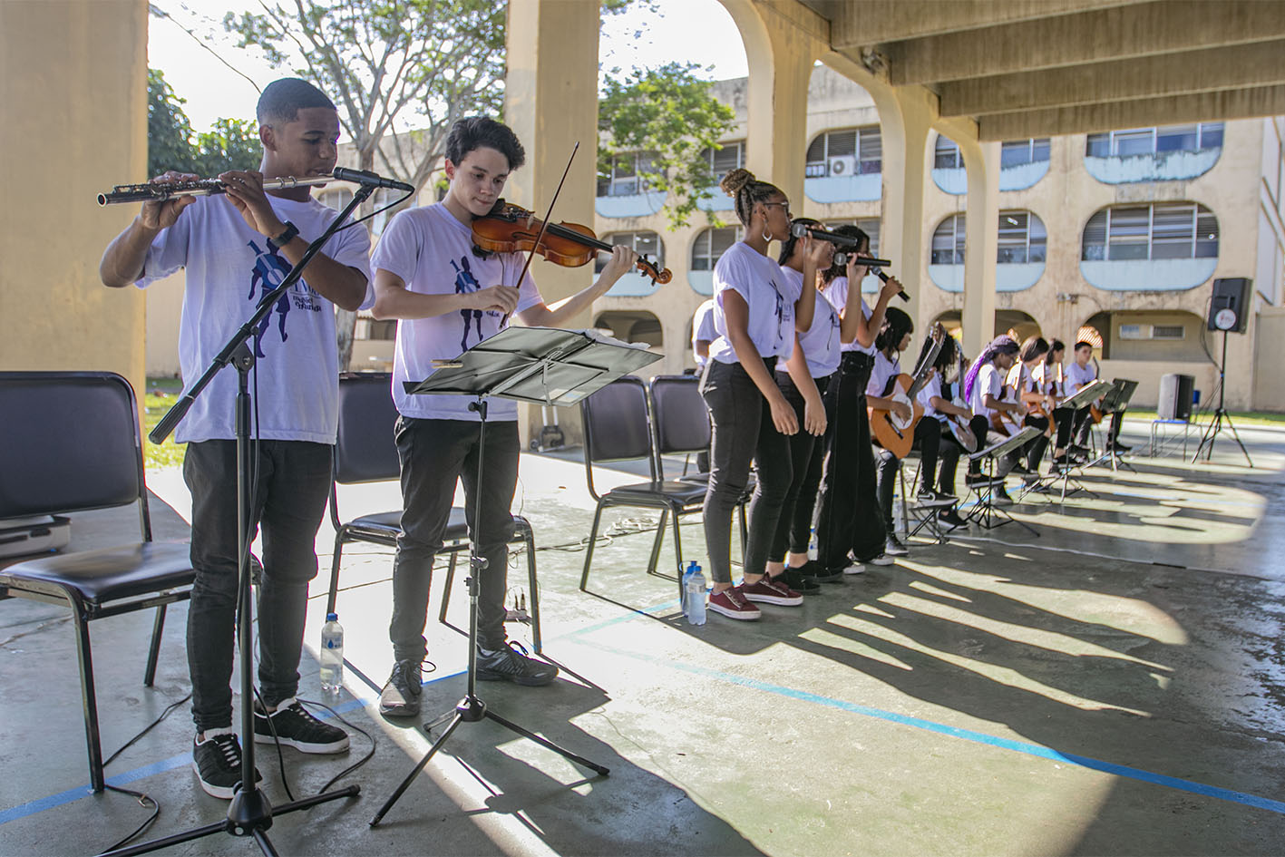
[[[775,185],[748,170],[732,170],[721,182],[732,198],[745,238],[714,265],[714,328],[700,393],[709,407],[709,490],[705,493],[705,547],[713,591],[709,609],[731,619],[757,619],[756,601],[797,606],[803,596],[767,573],[767,559],[781,505],[793,477],[789,441],[799,430],[794,409],[772,378],[779,360],[794,351],[795,333],[812,325],[816,289],[802,288],[767,256],[768,244],[790,234],[790,203]],[[808,253],[803,283],[816,275]],[[744,579],[731,581],[731,513],[757,465],[749,501],[749,540]]]

